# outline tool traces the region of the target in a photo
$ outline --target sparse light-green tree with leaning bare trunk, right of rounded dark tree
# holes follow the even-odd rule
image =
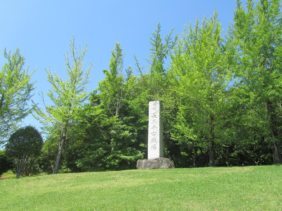
[[[36,107],[38,115],[36,118],[44,125],[49,135],[57,137],[59,140],[58,155],[53,174],[58,173],[64,142],[70,138],[73,126],[81,120],[81,106],[88,97],[87,84],[90,83],[92,63],[90,62],[89,68],[84,71],[83,64],[85,62],[83,62],[83,57],[86,52],[87,44],[84,49],[79,47],[77,50],[74,36],[72,36],[67,53],[64,54],[67,66],[67,80],[63,81],[56,72],[52,73],[50,68],[45,68],[47,80],[51,85],[47,96],[53,104],[47,105],[41,93],[45,112]]]

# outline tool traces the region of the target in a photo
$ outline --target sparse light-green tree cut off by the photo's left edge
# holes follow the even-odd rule
[[[8,61],[0,70],[0,146],[34,109],[28,105],[33,96],[34,82],[31,83],[30,78],[34,71],[28,74],[28,66],[23,69],[25,57],[19,48],[12,55],[4,48],[4,57]]]

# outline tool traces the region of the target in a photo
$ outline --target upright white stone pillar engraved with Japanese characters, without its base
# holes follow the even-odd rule
[[[164,156],[162,104],[149,102],[148,159]]]

